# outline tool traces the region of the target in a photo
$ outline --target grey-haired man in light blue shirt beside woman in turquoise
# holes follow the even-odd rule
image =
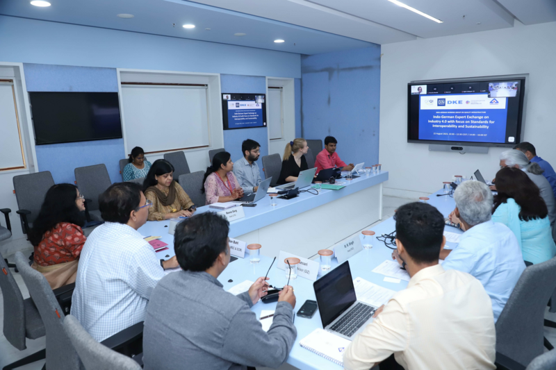
[[[498,320],[517,280],[525,270],[518,241],[504,224],[491,221],[492,192],[484,183],[469,180],[454,192],[456,209],[450,220],[465,233],[457,248],[444,249],[445,270],[463,271],[475,276],[492,301],[494,321]]]

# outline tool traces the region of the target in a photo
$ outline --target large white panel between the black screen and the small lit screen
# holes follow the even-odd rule
[[[122,85],[128,151],[208,146],[206,87]]]

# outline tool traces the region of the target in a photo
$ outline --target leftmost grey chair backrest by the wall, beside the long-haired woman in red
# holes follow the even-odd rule
[[[22,221],[24,234],[33,227],[33,221],[39,215],[44,196],[52,185],[54,185],[54,178],[50,171],[13,176],[15,199],[19,208],[16,213]]]

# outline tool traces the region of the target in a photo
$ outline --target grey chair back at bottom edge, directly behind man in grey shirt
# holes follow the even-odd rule
[[[93,339],[71,314],[64,319],[64,329],[70,337],[81,362],[87,370],[140,370],[131,358],[113,351]]]

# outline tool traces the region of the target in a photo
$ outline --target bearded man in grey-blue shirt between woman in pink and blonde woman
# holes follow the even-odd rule
[[[248,195],[256,192],[259,184],[263,182],[259,166],[256,164],[261,155],[261,144],[247,139],[241,144],[241,151],[243,151],[243,158],[234,163],[234,175],[243,189],[243,194]]]

